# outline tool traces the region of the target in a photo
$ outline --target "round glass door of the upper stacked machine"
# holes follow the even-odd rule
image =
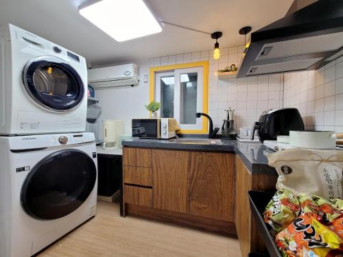
[[[27,62],[23,84],[38,105],[56,112],[72,110],[84,98],[84,84],[78,72],[54,56],[40,56]]]

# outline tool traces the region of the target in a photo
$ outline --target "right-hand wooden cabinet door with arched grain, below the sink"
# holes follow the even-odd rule
[[[235,155],[193,151],[190,154],[190,214],[235,220]]]

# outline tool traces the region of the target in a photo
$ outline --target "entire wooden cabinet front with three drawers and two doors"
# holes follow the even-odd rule
[[[124,147],[123,216],[235,236],[234,156]]]

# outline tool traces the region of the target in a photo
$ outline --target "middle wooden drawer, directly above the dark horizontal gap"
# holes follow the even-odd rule
[[[124,183],[152,186],[152,170],[145,167],[124,166]]]

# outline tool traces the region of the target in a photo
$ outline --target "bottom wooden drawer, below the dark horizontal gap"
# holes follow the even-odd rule
[[[138,186],[124,186],[126,204],[152,207],[152,189]]]

